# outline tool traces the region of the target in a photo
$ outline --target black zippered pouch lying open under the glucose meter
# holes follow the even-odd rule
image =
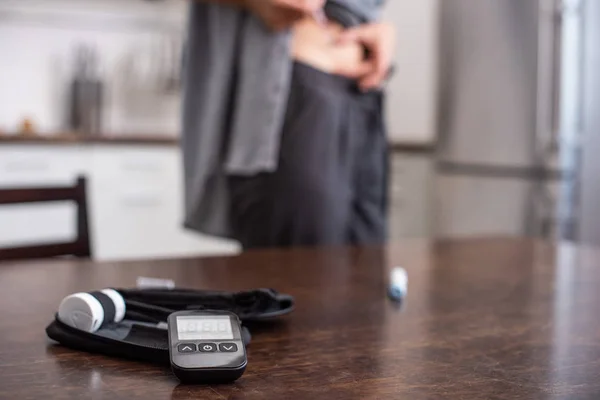
[[[242,323],[262,321],[293,310],[291,296],[272,289],[245,292],[215,292],[190,289],[115,289],[124,298],[125,319],[86,332],[63,323],[58,314],[46,334],[63,346],[152,363],[169,364],[169,339],[166,321],[169,314],[181,310],[231,311]],[[244,344],[250,332],[242,327]]]

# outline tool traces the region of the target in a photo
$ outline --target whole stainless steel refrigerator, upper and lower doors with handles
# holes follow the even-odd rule
[[[582,1],[440,2],[439,235],[576,235]]]

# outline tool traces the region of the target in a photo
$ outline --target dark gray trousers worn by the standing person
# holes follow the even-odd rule
[[[382,93],[301,63],[291,85],[277,170],[229,179],[234,238],[245,249],[384,242]]]

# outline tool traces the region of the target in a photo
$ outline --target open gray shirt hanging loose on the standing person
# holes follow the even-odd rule
[[[381,3],[329,0],[327,7],[340,21],[346,14],[362,22],[375,19]],[[182,134],[186,227],[230,237],[227,177],[277,168],[289,43],[289,32],[270,32],[243,10],[191,3]]]

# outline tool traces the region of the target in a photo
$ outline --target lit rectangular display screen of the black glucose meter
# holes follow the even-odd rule
[[[179,340],[231,340],[233,330],[228,316],[177,317]]]

